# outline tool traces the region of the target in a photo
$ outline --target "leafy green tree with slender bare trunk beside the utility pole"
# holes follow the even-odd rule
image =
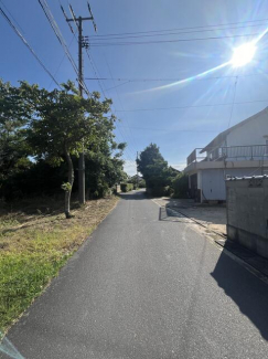
[[[36,160],[44,159],[51,166],[67,163],[65,190],[65,215],[71,218],[69,202],[74,184],[73,157],[85,148],[92,150],[101,147],[104,136],[112,138],[114,116],[107,117],[110,99],[100,101],[98,93],[83,98],[72,82],[62,84],[63,89],[47,91],[36,85],[21,83],[26,103],[32,106],[32,116],[28,129],[28,141]]]

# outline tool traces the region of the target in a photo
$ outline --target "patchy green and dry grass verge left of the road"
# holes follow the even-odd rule
[[[36,199],[0,212],[0,332],[31,305],[69,256],[103,221],[116,197],[73,203],[74,218],[56,199]],[[23,208],[23,210],[22,210]]]

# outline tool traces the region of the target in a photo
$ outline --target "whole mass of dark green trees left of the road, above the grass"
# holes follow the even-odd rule
[[[0,198],[19,199],[65,191],[69,217],[72,190],[77,189],[77,157],[84,147],[88,198],[100,198],[126,179],[112,133],[110,99],[78,95],[72,82],[47,91],[21,82],[0,81]]]

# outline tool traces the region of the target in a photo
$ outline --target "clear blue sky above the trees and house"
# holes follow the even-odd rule
[[[63,18],[60,1],[46,1],[66,43],[71,43],[69,50],[76,61],[77,43]],[[69,13],[68,1],[61,2]],[[71,0],[71,3],[77,15],[88,15],[86,0]],[[90,22],[84,24],[94,62],[93,68],[85,55],[85,77],[96,77],[97,73],[101,78],[142,80],[127,83],[86,81],[89,91],[104,89],[114,101],[112,110],[120,118],[116,136],[128,142],[125,168],[130,175],[136,171],[136,152],[150,142],[160,147],[171,166],[182,169],[195,147],[205,146],[228,125],[233,126],[268,105],[268,35],[259,41],[254,61],[245,67],[226,66],[201,80],[153,89],[228,62],[234,47],[256,38],[268,27],[266,0],[90,0],[90,6],[99,38]],[[37,0],[0,0],[0,7],[9,10],[57,82],[76,80]],[[181,28],[183,33],[178,31]],[[151,31],[160,32],[157,35]],[[133,34],[131,38],[116,35],[124,39],[100,40],[101,35],[122,33]],[[238,36],[245,34],[247,36]],[[47,88],[55,86],[2,17],[0,38],[0,77],[12,84],[26,80]],[[222,39],[196,40],[205,38]],[[116,42],[128,44],[110,45]],[[99,46],[100,43],[105,45]],[[236,85],[236,77],[232,76],[237,76]]]

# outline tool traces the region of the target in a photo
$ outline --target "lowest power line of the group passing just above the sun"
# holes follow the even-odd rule
[[[247,38],[247,36],[257,36],[257,35],[259,35],[259,33],[248,33],[248,34],[239,34],[239,35],[226,35],[226,36],[193,38],[193,39],[156,40],[156,41],[132,41],[132,42],[129,41],[129,42],[106,42],[106,43],[92,42],[90,46],[101,47],[101,46],[147,45],[147,44],[160,44],[160,43],[176,43],[176,42],[190,42],[190,41]]]

